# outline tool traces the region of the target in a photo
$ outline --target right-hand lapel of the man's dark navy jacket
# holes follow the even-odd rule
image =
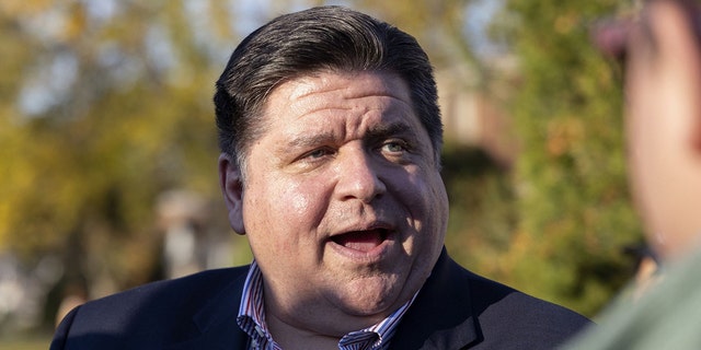
[[[430,277],[406,312],[390,349],[461,349],[481,338],[469,280],[444,248]]]

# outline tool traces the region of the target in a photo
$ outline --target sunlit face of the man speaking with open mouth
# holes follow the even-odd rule
[[[275,316],[361,325],[411,299],[443,248],[448,199],[404,81],[291,80],[262,120],[238,208]]]

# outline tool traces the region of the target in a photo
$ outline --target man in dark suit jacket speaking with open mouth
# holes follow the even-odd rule
[[[283,15],[234,50],[215,104],[254,262],[88,303],[54,349],[548,349],[589,323],[448,257],[436,85],[407,34]]]

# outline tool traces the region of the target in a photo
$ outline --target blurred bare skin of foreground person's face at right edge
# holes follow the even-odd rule
[[[647,11],[629,42],[630,170],[651,242],[670,257],[698,245],[701,233],[701,48],[675,1],[653,1]]]

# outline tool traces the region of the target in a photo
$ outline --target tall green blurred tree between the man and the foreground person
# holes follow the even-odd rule
[[[521,154],[518,230],[504,276],[593,315],[631,276],[641,229],[625,182],[621,84],[590,40],[619,1],[507,1],[501,22],[519,60],[509,110]]]

